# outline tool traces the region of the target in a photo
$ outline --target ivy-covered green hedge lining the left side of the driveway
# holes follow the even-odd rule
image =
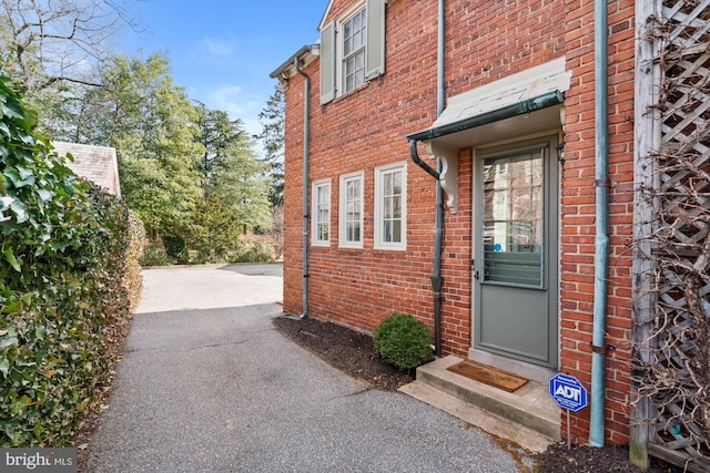
[[[70,443],[110,381],[135,279],[126,207],[77,179],[34,123],[0,78],[0,446]]]

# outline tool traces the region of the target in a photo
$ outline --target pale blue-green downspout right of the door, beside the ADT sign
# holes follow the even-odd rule
[[[607,274],[609,266],[608,12],[595,0],[595,299],[591,341],[591,411],[589,445],[604,446],[607,347]]]

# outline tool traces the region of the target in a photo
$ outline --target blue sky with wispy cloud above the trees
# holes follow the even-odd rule
[[[144,33],[118,41],[128,55],[166,53],[175,85],[209,109],[242,119],[257,133],[274,91],[268,74],[316,30],[327,0],[145,0],[136,3]]]

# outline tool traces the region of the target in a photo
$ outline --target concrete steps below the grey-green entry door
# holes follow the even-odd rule
[[[547,385],[528,381],[507,392],[447,370],[459,361],[448,356],[417,368],[400,391],[531,452],[560,439],[560,408]]]

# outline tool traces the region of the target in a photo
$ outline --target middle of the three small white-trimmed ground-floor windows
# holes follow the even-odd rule
[[[341,176],[339,246],[363,247],[363,173]]]

